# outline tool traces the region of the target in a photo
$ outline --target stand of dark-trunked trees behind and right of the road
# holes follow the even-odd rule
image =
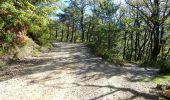
[[[169,66],[169,0],[69,0],[66,4],[58,13],[59,41],[86,42],[112,62]]]

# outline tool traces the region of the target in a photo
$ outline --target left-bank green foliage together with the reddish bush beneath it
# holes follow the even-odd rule
[[[50,16],[58,0],[0,0],[0,56],[27,46],[28,37],[50,47]],[[32,33],[32,35],[30,35]],[[22,44],[22,45],[21,45]],[[33,42],[32,42],[33,44]],[[29,46],[32,46],[31,44]],[[22,51],[22,50],[21,50]],[[24,50],[23,51],[27,51]],[[1,54],[2,53],[2,54]],[[33,52],[35,54],[35,52]],[[21,56],[24,53],[20,53]]]

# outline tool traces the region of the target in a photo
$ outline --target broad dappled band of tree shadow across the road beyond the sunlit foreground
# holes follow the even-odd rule
[[[142,78],[146,76],[153,76],[156,73],[155,70],[111,65],[100,57],[94,56],[90,52],[90,49],[83,44],[60,43],[55,45],[58,45],[58,48],[53,48],[47,53],[47,55],[43,54],[42,57],[39,57],[38,59],[32,58],[29,60],[12,62],[10,66],[6,67],[10,71],[7,70],[3,72],[5,74],[14,74],[11,75],[12,78],[12,76],[23,76],[46,71],[70,69],[73,70],[73,74],[84,75],[84,77],[82,77],[84,81],[89,79],[100,79],[102,77],[111,78],[113,76],[126,76],[127,74],[131,74],[131,77],[126,78],[132,82],[142,80]],[[86,76],[88,73],[96,74]],[[3,74],[0,74],[0,76],[2,75]],[[0,81],[2,80],[0,79]]]

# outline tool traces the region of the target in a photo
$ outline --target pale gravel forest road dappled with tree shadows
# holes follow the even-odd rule
[[[111,65],[83,44],[54,43],[40,57],[12,64],[0,81],[0,100],[157,100],[156,70]],[[2,77],[1,77],[2,78]]]

